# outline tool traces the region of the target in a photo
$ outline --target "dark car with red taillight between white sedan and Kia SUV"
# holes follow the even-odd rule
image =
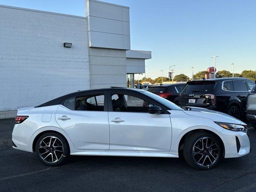
[[[160,84],[148,88],[148,91],[178,104],[178,95],[185,85],[186,83]]]

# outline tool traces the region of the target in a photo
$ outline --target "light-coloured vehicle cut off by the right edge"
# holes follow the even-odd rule
[[[246,119],[252,123],[256,129],[256,85],[247,97]]]

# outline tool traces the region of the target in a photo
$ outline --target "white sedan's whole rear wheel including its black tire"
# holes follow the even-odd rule
[[[70,156],[68,142],[62,135],[54,132],[43,134],[36,142],[36,155],[45,165],[58,166]]]

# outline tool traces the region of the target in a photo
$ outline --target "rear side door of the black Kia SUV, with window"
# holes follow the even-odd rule
[[[250,93],[250,90],[248,90],[245,80],[233,80],[233,85],[234,85],[234,93],[242,103],[242,110],[245,111],[246,100],[247,100],[248,94]]]

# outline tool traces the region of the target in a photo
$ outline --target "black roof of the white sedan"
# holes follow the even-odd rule
[[[80,96],[84,94],[97,94],[97,93],[102,93],[106,91],[115,91],[115,92],[122,92],[122,91],[128,91],[128,92],[142,92],[145,90],[142,89],[136,89],[136,88],[122,88],[122,87],[110,87],[110,88],[100,88],[100,89],[88,89],[88,90],[79,90],[76,92],[72,92],[63,96],[60,96],[58,98],[55,98],[53,100],[50,100],[48,102],[45,102],[43,104],[40,104],[36,107],[43,107],[43,106],[50,106],[54,104],[60,104],[63,100],[66,100],[67,98],[70,97],[75,97],[75,96]]]

